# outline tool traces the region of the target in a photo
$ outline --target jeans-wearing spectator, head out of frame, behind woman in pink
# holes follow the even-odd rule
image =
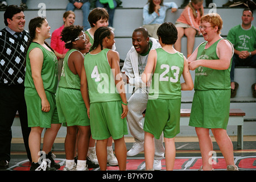
[[[82,26],[84,26],[84,30],[90,28],[90,24],[88,22],[88,15],[90,13],[90,0],[68,0],[69,3],[67,5],[66,11],[75,11],[75,9],[82,10]]]

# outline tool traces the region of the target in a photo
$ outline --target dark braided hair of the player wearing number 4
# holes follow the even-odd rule
[[[101,45],[101,50],[103,49],[102,40],[104,38],[110,38],[112,35],[112,30],[109,27],[100,27],[94,32],[94,42],[92,46],[92,50],[95,49],[98,44]]]

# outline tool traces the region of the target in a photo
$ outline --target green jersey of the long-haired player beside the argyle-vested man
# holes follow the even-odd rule
[[[26,59],[26,77],[24,85],[27,88],[34,88],[35,84],[31,73],[30,57],[28,56],[30,51],[34,48],[40,48],[44,55],[43,66],[41,76],[43,80],[44,90],[48,90],[51,93],[56,93],[57,82],[58,82],[58,68],[57,68],[57,57],[52,51],[48,51],[46,48],[38,43],[32,42],[27,51]]]

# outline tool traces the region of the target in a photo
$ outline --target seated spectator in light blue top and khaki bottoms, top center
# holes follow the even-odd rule
[[[148,0],[143,7],[143,27],[148,31],[149,36],[158,39],[156,31],[166,18],[166,11],[172,10],[172,13],[177,11],[175,2],[163,2],[163,0]]]

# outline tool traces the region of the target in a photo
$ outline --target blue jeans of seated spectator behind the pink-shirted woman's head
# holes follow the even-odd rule
[[[67,5],[67,8],[66,8],[66,11],[74,11],[76,9],[76,7],[71,3],[69,2],[68,5]],[[84,26],[84,30],[87,30],[88,28],[90,28],[90,23],[88,22],[88,15],[90,13],[90,2],[87,1],[86,3],[82,4],[82,7],[81,7],[81,10],[82,10],[82,26]]]

